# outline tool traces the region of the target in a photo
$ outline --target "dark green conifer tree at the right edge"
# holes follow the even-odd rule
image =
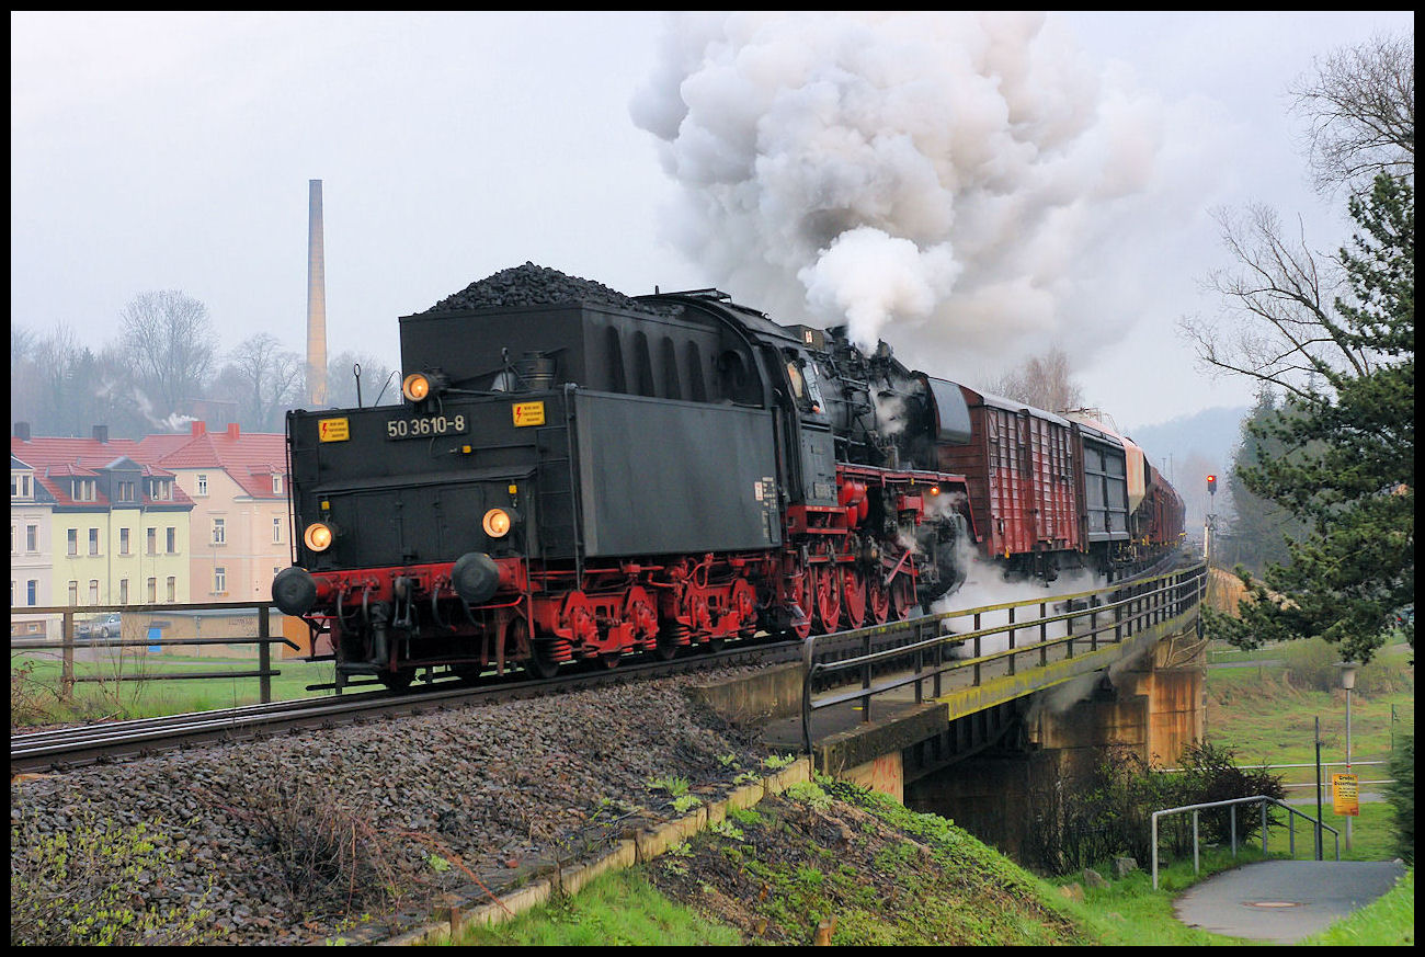
[[[1243,617],[1217,624],[1243,647],[1320,635],[1369,661],[1394,612],[1415,600],[1414,191],[1382,174],[1349,209],[1359,232],[1341,263],[1352,298],[1335,303],[1335,335],[1368,360],[1320,369],[1324,386],[1250,426],[1282,453],[1240,467],[1240,478],[1310,534],[1264,581],[1241,572]],[[1414,647],[1414,627],[1406,637]]]

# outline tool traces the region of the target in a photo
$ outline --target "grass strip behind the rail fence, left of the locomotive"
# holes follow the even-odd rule
[[[36,725],[97,718],[155,718],[190,711],[212,711],[258,704],[256,678],[202,678],[194,681],[142,681],[144,675],[256,671],[252,658],[192,658],[180,655],[150,655],[142,648],[113,649],[113,657],[100,661],[74,662],[74,674],[97,676],[100,682],[77,682],[71,699],[58,696],[61,665],[56,654],[10,655],[10,716],[11,725]],[[28,671],[26,669],[28,665]],[[306,685],[332,681],[331,662],[282,661],[274,655],[272,666],[281,675],[272,678],[272,701],[314,698],[331,692],[306,691]],[[16,678],[17,669],[23,675]],[[123,681],[117,678],[123,675]],[[130,678],[137,678],[131,681]]]

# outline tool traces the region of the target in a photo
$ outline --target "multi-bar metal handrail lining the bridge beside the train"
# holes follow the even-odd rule
[[[846,701],[862,701],[861,721],[871,721],[871,698],[878,694],[888,691],[895,691],[896,688],[903,688],[906,685],[915,684],[915,699],[921,702],[923,699],[923,682],[926,679],[933,679],[936,695],[939,695],[940,676],[950,671],[958,671],[962,668],[975,669],[975,685],[980,684],[980,666],[989,662],[1009,659],[1010,671],[1013,672],[1015,659],[1017,655],[1037,651],[1040,655],[1040,664],[1045,664],[1047,658],[1049,648],[1057,645],[1066,645],[1069,649],[1069,657],[1073,657],[1073,642],[1089,641],[1090,649],[1096,651],[1099,645],[1099,635],[1102,632],[1113,631],[1113,641],[1119,644],[1123,638],[1131,637],[1140,629],[1140,622],[1143,618],[1150,618],[1157,621],[1166,607],[1168,605],[1188,605],[1198,604],[1203,595],[1203,582],[1206,581],[1206,563],[1198,563],[1187,568],[1178,568],[1174,571],[1163,572],[1151,578],[1143,578],[1140,581],[1116,582],[1112,585],[1104,585],[1103,588],[1093,588],[1089,591],[1073,592],[1069,595],[1054,595],[1052,598],[1026,598],[1020,601],[1010,601],[999,605],[982,605],[978,608],[963,608],[942,611],[932,615],[922,615],[919,618],[912,618],[899,625],[874,625],[869,628],[858,628],[855,631],[844,631],[835,635],[839,641],[861,638],[865,644],[866,652],[855,658],[845,658],[842,661],[832,662],[818,662],[815,661],[814,645],[818,639],[831,638],[831,635],[808,635],[802,642],[802,746],[807,753],[811,753],[811,715],[814,711],[822,708],[832,708],[835,705],[845,704]],[[1160,582],[1171,578],[1171,582],[1159,585],[1157,588],[1144,590],[1147,585]],[[1059,614],[1059,615],[1042,615],[1039,618],[1027,621],[1015,621],[1013,610],[1023,608],[1029,605],[1046,607],[1050,602],[1064,602],[1074,601],[1079,598],[1096,597],[1102,594],[1117,594],[1129,592],[1126,597],[1117,601],[1092,605],[1089,608],[1073,610]],[[1127,610],[1127,614],[1124,614]],[[1007,611],[1009,621],[1002,625],[993,625],[989,628],[979,628],[979,618],[988,612]],[[1109,615],[1109,621],[1103,625],[1097,624],[1097,617],[1102,614]],[[1181,612],[1174,612],[1181,614]],[[970,632],[963,634],[939,634],[939,622],[958,619],[958,618],[975,618],[976,628]],[[1073,631],[1073,621],[1080,618],[1090,619],[1090,629],[1086,632]],[[1039,629],[1043,635],[1050,624],[1059,621],[1069,621],[1069,634],[1057,638],[1042,638],[1040,641],[1032,641],[1027,645],[1015,645],[1015,632]],[[936,634],[931,638],[921,638],[909,645],[899,645],[895,648],[888,648],[884,651],[869,651],[871,638],[878,634],[885,634],[893,628],[915,629],[916,632],[925,629],[928,625],[936,625]],[[988,655],[979,654],[980,639],[988,635],[995,635],[1000,632],[1009,632],[1009,648],[1003,651],[995,651]],[[945,662],[943,648],[946,645],[962,645],[966,641],[975,642],[975,657],[952,659],[950,664]],[[935,664],[929,671],[923,669],[923,655],[926,651],[935,649]],[[881,682],[875,686],[871,684],[871,666],[891,661],[895,658],[906,658],[915,655],[915,674],[895,678],[886,682]],[[851,671],[859,668],[862,672],[862,682],[859,691],[851,691],[841,695],[832,695],[822,701],[812,701],[812,684],[818,675],[836,674],[841,671]]]

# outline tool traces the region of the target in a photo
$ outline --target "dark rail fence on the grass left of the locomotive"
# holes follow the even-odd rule
[[[11,608],[11,621],[30,617],[60,618],[58,641],[50,638],[11,637],[10,651],[58,651],[60,652],[60,694],[68,698],[76,682],[108,682],[108,681],[201,681],[207,678],[256,678],[258,696],[262,704],[272,701],[272,678],[282,672],[272,668],[272,645],[282,644],[292,649],[298,645],[288,641],[281,634],[272,634],[271,601],[208,601],[197,604],[151,604],[151,605],[56,605]],[[90,618],[97,614],[117,611],[121,615],[188,615],[195,611],[256,611],[256,634],[234,635],[219,638],[80,638],[76,631],[76,617]],[[121,625],[123,628],[123,625]],[[123,631],[120,632],[123,634]],[[74,652],[93,648],[165,648],[175,645],[256,645],[258,666],[255,671],[204,671],[204,672],[174,672],[174,674],[142,674],[125,676],[121,671],[114,675],[76,675]]]

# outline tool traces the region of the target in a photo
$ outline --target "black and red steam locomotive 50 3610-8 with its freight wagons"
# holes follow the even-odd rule
[[[784,326],[533,263],[400,320],[402,404],[286,417],[275,604],[409,685],[906,618],[979,554],[1052,581],[1173,548],[1130,440]]]

